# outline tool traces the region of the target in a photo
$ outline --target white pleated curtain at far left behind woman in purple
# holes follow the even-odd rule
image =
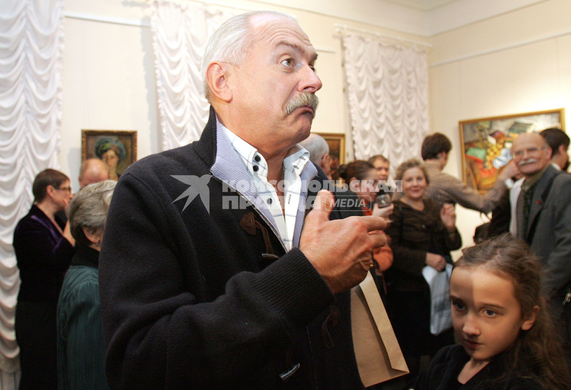
[[[58,168],[64,0],[0,5],[0,371],[18,370],[14,308],[19,288],[14,227],[31,206],[35,175]],[[11,385],[11,383],[14,384]]]

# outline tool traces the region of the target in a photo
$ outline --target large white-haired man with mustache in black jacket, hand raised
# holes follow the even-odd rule
[[[385,223],[317,193],[299,146],[316,57],[289,15],[229,19],[203,57],[200,140],[120,177],[99,266],[111,388],[363,388],[348,290]]]

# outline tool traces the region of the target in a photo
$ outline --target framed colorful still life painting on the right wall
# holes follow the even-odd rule
[[[512,158],[513,140],[524,132],[565,131],[564,108],[459,122],[464,182],[485,194]]]

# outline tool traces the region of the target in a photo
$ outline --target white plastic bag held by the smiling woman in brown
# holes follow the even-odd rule
[[[450,275],[452,265],[446,264],[444,271],[436,271],[430,266],[423,268],[423,276],[430,287],[430,332],[433,335],[452,327],[452,310],[450,304]]]

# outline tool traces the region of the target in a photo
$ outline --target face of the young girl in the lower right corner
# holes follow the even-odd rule
[[[535,321],[535,315],[522,319],[512,281],[484,267],[455,268],[450,296],[456,337],[473,360],[488,361],[505,351]]]

